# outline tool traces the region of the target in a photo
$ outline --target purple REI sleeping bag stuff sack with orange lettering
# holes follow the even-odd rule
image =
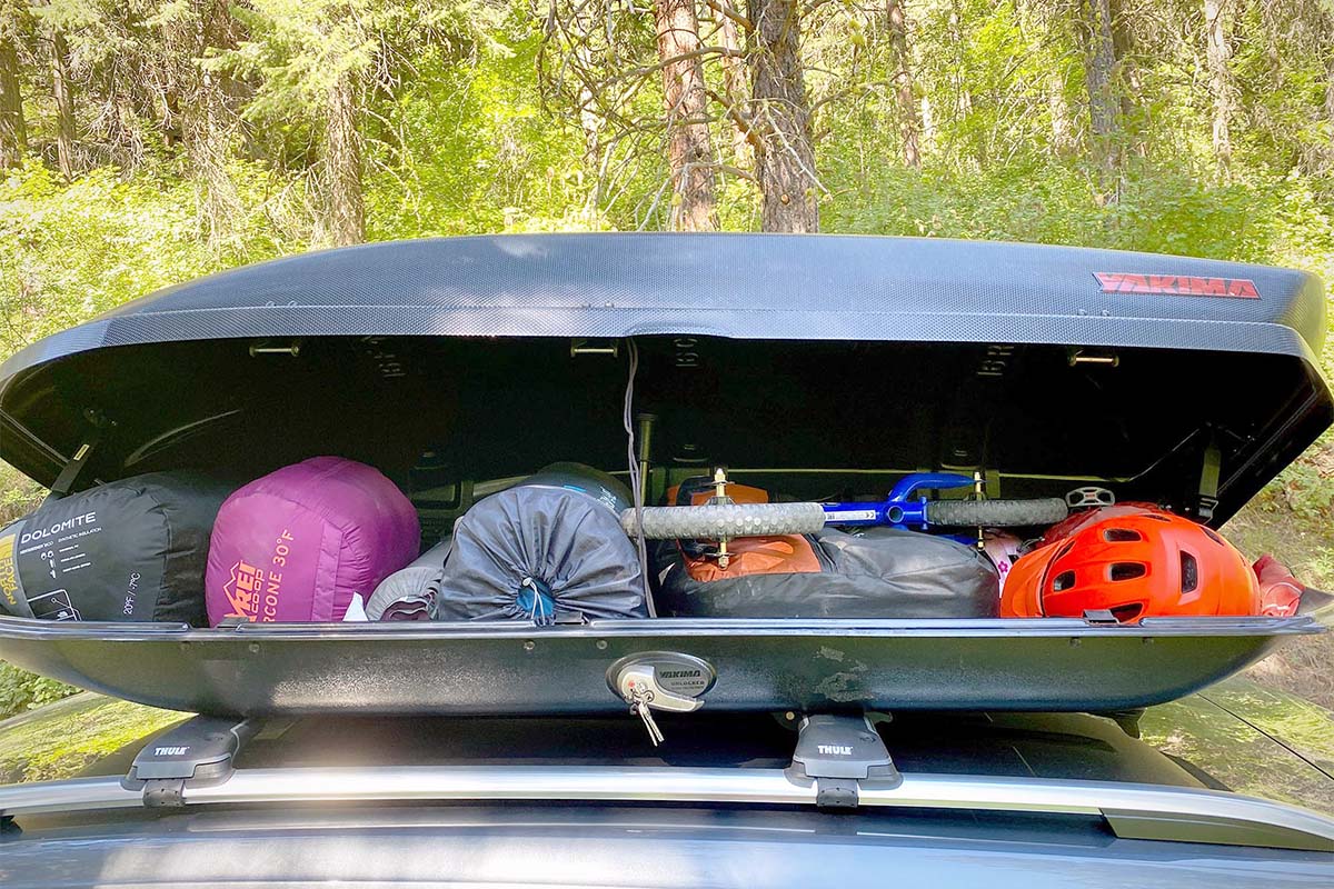
[[[223,504],[208,548],[208,622],[340,621],[418,554],[408,498],[360,462],[312,457]]]

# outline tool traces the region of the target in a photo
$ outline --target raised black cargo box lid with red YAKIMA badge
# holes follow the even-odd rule
[[[667,452],[984,466],[1027,480],[1009,494],[1114,480],[1189,510],[1213,446],[1215,524],[1334,416],[1323,289],[1291,269],[927,239],[496,236],[239,268],[47,337],[0,367],[0,458],[49,484],[105,423],[80,485],[205,454],[244,474],[321,445],[392,474],[450,437],[475,477],[575,453],[614,468],[615,436],[590,453],[588,431],[619,429],[623,359],[571,363],[571,345],[630,336],[647,409],[679,415]]]

